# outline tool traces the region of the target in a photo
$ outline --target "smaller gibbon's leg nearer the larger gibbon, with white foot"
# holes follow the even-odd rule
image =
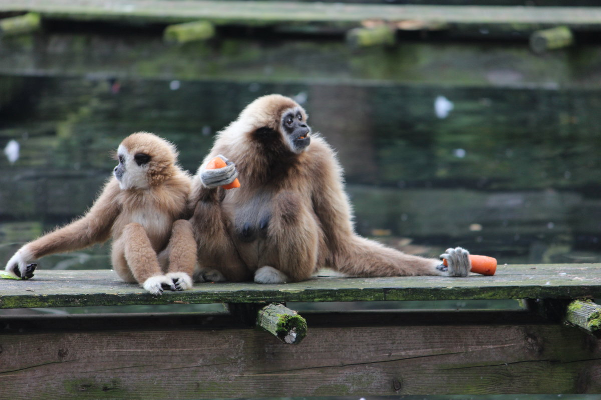
[[[194,231],[189,221],[178,219],[173,223],[171,239],[163,252],[166,253],[169,260],[169,268],[165,276],[172,279],[175,289],[191,288],[197,250]]]

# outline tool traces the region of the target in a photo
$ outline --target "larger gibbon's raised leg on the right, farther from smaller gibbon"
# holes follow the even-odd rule
[[[283,192],[273,199],[268,232],[265,260],[275,264],[257,269],[254,281],[273,284],[310,278],[317,264],[319,230],[300,196]]]

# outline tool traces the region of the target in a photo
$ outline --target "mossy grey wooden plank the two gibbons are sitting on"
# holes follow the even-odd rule
[[[601,264],[499,265],[495,276],[313,278],[291,284],[195,284],[151,296],[111,270],[37,270],[0,280],[0,308],[169,303],[346,302],[374,300],[573,299],[601,297]],[[532,269],[535,268],[535,269]]]

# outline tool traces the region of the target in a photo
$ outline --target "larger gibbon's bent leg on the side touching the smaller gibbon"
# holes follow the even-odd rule
[[[219,189],[222,190],[222,189]],[[248,281],[251,273],[231,239],[227,217],[218,199],[218,189],[200,187],[190,219],[198,246],[198,269],[194,281]]]

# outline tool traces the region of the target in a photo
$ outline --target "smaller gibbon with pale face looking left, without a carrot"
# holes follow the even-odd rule
[[[191,178],[175,147],[151,133],[134,133],[117,149],[119,164],[84,216],[26,243],[6,270],[31,278],[44,255],[81,249],[112,236],[112,265],[126,282],[152,294],[192,287],[196,242],[186,216]]]

